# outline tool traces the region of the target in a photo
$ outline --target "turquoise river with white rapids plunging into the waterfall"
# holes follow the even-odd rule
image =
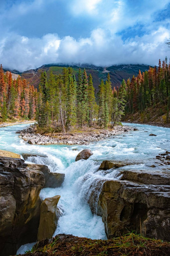
[[[44,154],[47,157],[29,157],[27,162],[47,165],[51,172],[64,173],[65,179],[60,188],[44,188],[40,197],[60,195],[58,207],[62,215],[59,217],[55,234],[65,233],[92,239],[106,239],[104,224],[101,217],[91,213],[87,203],[92,190],[95,190],[95,204],[102,183],[106,179],[118,179],[121,169],[146,169],[151,172],[154,168],[155,156],[170,150],[170,128],[129,124],[138,131],[117,135],[103,141],[81,146],[65,145],[29,145],[18,137],[15,132],[25,129],[28,125],[19,124],[0,128],[0,149],[18,154]],[[156,136],[149,136],[149,134]],[[93,155],[86,161],[75,162],[76,155],[83,149],[90,149]],[[131,166],[98,171],[103,160],[130,161]],[[163,167],[159,167],[163,168]],[[100,187],[97,186],[100,181]],[[18,252],[28,247],[22,247]]]

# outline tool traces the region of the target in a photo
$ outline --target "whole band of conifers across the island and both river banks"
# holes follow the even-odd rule
[[[124,120],[135,118],[148,122],[152,116],[161,116],[162,122],[169,122],[170,106],[170,64],[165,58],[159,60],[158,68],[139,70],[138,75],[123,79],[121,86],[111,84],[107,72],[105,81],[98,83],[97,93],[93,77],[86,69],[56,67],[40,73],[39,87],[22,79],[12,79],[11,73],[3,73],[0,66],[0,118],[25,118],[38,121],[41,129],[69,131],[75,127],[97,126],[106,129]],[[138,119],[137,119],[138,118]],[[152,119],[151,119],[152,120]]]

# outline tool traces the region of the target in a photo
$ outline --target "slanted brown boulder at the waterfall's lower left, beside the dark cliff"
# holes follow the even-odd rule
[[[40,206],[40,220],[37,239],[52,238],[57,226],[57,203],[60,196],[46,198]]]

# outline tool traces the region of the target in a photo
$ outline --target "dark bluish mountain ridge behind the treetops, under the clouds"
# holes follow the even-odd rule
[[[30,84],[34,85],[37,88],[39,84],[40,73],[42,71],[46,71],[47,76],[49,76],[49,73],[51,70],[53,71],[54,74],[58,75],[62,73],[63,67],[68,67],[68,65],[48,64],[48,65],[43,65],[37,69],[30,69],[22,73],[19,73],[19,72],[18,73],[21,75],[22,78],[27,79]],[[75,65],[71,67],[73,69],[73,73],[77,77],[79,66]],[[110,67],[102,68],[102,67],[96,67],[94,65],[85,64],[85,65],[81,65],[80,68],[82,71],[83,71],[83,68],[85,68],[87,75],[91,73],[93,78],[93,85],[97,91],[98,84],[100,83],[101,79],[103,79],[104,81],[106,80],[108,72],[110,74],[112,87],[120,86],[122,79],[132,78],[133,75],[136,76],[138,74],[139,69],[141,72],[144,72],[148,70],[149,66],[129,64],[129,65],[113,65]]]

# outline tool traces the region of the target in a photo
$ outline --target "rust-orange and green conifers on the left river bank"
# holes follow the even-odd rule
[[[37,90],[25,79],[12,79],[11,72],[4,74],[0,65],[0,119],[34,119]]]

